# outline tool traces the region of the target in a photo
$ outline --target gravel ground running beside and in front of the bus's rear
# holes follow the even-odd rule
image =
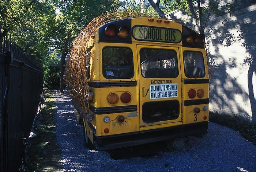
[[[86,149],[68,92],[56,90],[54,98],[61,171],[256,171],[256,146],[236,131],[212,122],[203,137],[112,151]]]

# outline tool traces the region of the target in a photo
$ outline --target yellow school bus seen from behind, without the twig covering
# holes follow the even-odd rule
[[[107,150],[208,129],[204,35],[156,18],[116,20],[89,40],[85,145]]]

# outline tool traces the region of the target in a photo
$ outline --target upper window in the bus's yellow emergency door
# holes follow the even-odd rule
[[[176,78],[178,76],[177,53],[174,50],[142,48],[140,65],[145,78]]]

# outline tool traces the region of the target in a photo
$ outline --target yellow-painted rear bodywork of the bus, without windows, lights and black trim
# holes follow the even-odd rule
[[[155,19],[156,20],[156,19]],[[164,23],[164,19],[161,19],[161,23],[148,21],[148,18],[133,18],[131,19],[132,26],[141,25],[141,26],[154,26],[161,28],[174,28],[182,32],[182,25],[179,23],[175,23],[170,21],[170,23]],[[182,47],[182,41],[179,43],[166,43],[166,42],[151,42],[151,41],[142,41],[136,40],[133,37],[131,38],[132,43],[103,43],[99,42],[99,34],[98,30],[94,32],[95,38],[91,39],[90,46],[91,48],[91,78],[90,82],[113,82],[113,81],[136,81],[137,85],[128,87],[91,87],[93,92],[93,100],[90,103],[93,107],[115,107],[115,106],[127,106],[127,105],[137,105],[137,111],[134,112],[122,112],[122,113],[109,113],[109,114],[94,114],[93,121],[91,121],[91,125],[96,130],[97,136],[109,136],[114,134],[121,133],[130,133],[130,132],[138,132],[142,130],[151,130],[157,128],[166,128],[177,125],[184,124],[192,124],[195,122],[203,122],[208,121],[208,104],[202,105],[192,105],[192,106],[184,106],[184,101],[192,100],[188,97],[188,91],[190,89],[198,89],[204,90],[204,97],[201,99],[209,98],[209,84],[208,83],[200,83],[200,84],[185,84],[183,83],[184,79],[209,79],[208,69],[207,69],[207,60],[205,50],[202,48],[185,48]],[[93,42],[93,43],[92,43]],[[133,66],[134,66],[134,76],[130,79],[106,79],[102,74],[102,50],[104,47],[129,47],[133,52]],[[177,53],[178,59],[178,77],[176,78],[143,78],[140,69],[140,57],[139,51],[141,48],[159,48],[159,49],[168,49],[174,50]],[[205,67],[205,77],[203,78],[187,78],[184,72],[184,62],[183,62],[183,52],[189,51],[200,51],[203,54],[204,58],[204,67]],[[145,97],[143,95],[143,87],[145,90],[149,88],[151,85],[151,80],[168,80],[171,79],[172,83],[178,84],[178,97],[174,98],[162,98],[162,99],[150,99],[149,97]],[[128,92],[131,94],[132,99],[129,103],[123,103],[120,100],[120,96],[122,93]],[[112,105],[108,102],[108,95],[110,93],[116,93],[119,97],[119,101]],[[179,117],[176,120],[168,120],[168,121],[160,121],[154,123],[145,123],[142,120],[142,105],[144,102],[152,102],[152,101],[164,101],[164,100],[178,100],[180,103],[179,109]],[[200,99],[195,97],[194,99]],[[207,107],[207,111],[203,111],[203,107]],[[194,108],[198,107],[200,112],[196,114]],[[157,107],[156,107],[157,108]],[[129,117],[129,113],[132,113],[134,116]],[[136,116],[136,114],[138,114]],[[117,121],[118,116],[124,116],[125,121],[120,123]],[[103,118],[108,116],[110,118],[109,122],[104,122]],[[203,117],[206,116],[207,119],[204,120]],[[195,121],[196,119],[196,121]],[[90,127],[89,127],[90,128]],[[109,133],[104,133],[104,129],[108,128]],[[90,130],[90,132],[92,132]],[[90,140],[93,141],[93,136],[89,135]]]

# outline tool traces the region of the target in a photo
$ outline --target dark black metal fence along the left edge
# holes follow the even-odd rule
[[[42,68],[10,42],[0,46],[0,171],[19,171],[43,89]]]

